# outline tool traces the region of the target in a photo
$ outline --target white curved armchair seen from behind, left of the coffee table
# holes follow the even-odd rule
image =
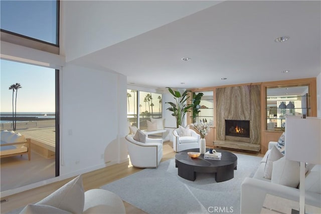
[[[141,143],[133,136],[125,137],[131,164],[139,168],[156,168],[163,157],[163,139],[146,137],[146,142]]]

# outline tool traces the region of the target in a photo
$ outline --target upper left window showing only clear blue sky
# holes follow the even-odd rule
[[[59,1],[1,1],[1,29],[59,45]]]

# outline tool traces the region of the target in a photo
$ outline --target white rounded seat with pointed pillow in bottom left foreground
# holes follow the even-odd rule
[[[82,176],[69,181],[44,199],[28,204],[21,214],[29,213],[126,213],[122,199],[104,189],[84,191]]]

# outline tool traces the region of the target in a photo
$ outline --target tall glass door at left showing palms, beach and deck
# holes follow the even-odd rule
[[[30,161],[27,155],[1,159],[2,191],[59,175],[58,74],[51,68],[1,60],[1,130],[31,139]],[[13,176],[13,171],[28,176]]]

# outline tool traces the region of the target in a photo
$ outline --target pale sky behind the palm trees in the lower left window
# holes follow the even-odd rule
[[[17,112],[55,112],[55,69],[0,60],[0,78],[1,112],[12,112],[9,87],[16,83]]]

